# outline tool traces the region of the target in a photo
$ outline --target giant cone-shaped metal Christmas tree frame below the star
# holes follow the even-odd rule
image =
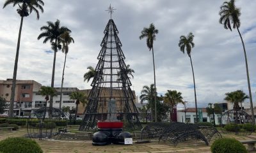
[[[134,105],[134,93],[131,91],[131,81],[127,76],[125,55],[122,52],[122,43],[119,40],[118,30],[112,19],[109,19],[102,47],[97,57],[99,60],[92,81],[92,90],[88,96],[88,105],[84,110],[84,119],[79,127],[80,131],[88,131],[95,127],[97,120],[104,121],[108,117],[108,102],[116,101],[116,117],[124,120],[130,128],[141,129],[138,119],[138,110]]]

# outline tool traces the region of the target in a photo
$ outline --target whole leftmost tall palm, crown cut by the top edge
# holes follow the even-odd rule
[[[18,69],[18,60],[19,60],[19,50],[20,50],[20,36],[22,31],[22,24],[23,24],[23,18],[28,17],[28,15],[35,11],[36,13],[36,19],[39,20],[39,9],[44,13],[44,1],[42,0],[6,0],[4,3],[3,8],[5,8],[7,5],[12,4],[13,7],[15,5],[19,5],[19,8],[17,9],[17,13],[20,15],[20,29],[19,29],[19,36],[18,36],[18,43],[17,43],[17,50],[16,50],[16,56],[15,56],[15,63],[14,63],[14,69],[13,69],[13,80],[12,80],[12,94],[11,94],[11,101],[9,106],[9,117],[13,117],[13,105],[14,105],[14,97],[15,97],[15,87],[16,87],[16,77],[17,77],[17,69]]]

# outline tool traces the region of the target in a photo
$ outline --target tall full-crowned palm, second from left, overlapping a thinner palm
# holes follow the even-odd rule
[[[61,49],[61,34],[65,33],[65,31],[68,31],[71,33],[70,29],[67,27],[60,27],[60,20],[56,20],[56,22],[48,21],[47,25],[42,26],[40,28],[41,31],[44,31],[43,33],[39,34],[38,40],[40,38],[45,38],[43,43],[47,43],[47,41],[50,41],[52,50],[54,50],[54,59],[53,59],[53,66],[52,66],[52,82],[51,87],[54,87],[54,73],[55,73],[55,62],[56,62],[56,52]],[[52,96],[50,96],[50,110],[52,110]],[[51,112],[50,112],[51,113]]]

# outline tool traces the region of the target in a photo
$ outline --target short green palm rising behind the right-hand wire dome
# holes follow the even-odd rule
[[[234,104],[233,110],[235,110],[236,112],[236,123],[237,123],[237,119],[238,119],[237,111],[239,110],[239,103],[242,103],[246,98],[248,98],[248,96],[241,90],[227,92],[225,95],[226,97],[224,98],[224,100]]]

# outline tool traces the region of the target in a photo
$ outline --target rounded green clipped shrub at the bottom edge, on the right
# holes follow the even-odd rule
[[[246,153],[244,145],[234,138],[222,138],[215,140],[211,145],[212,153]]]

